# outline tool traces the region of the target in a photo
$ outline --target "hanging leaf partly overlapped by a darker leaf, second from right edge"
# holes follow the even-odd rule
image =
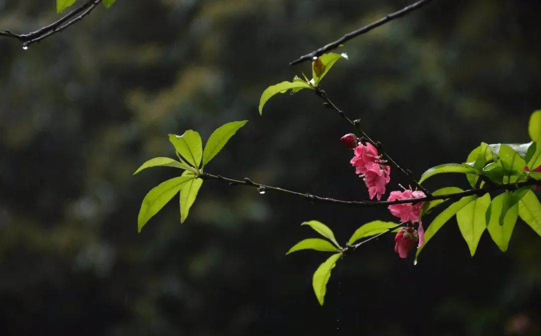
[[[487,217],[490,218],[487,229],[492,240],[502,252],[507,251],[507,247],[509,247],[509,241],[518,218],[517,203],[504,210],[504,205],[510,202],[511,193],[506,191],[494,197],[487,210]]]

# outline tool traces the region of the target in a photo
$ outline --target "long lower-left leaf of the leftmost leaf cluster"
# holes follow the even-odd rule
[[[137,232],[141,232],[148,220],[157,214],[180,191],[184,183],[191,179],[192,177],[189,176],[173,177],[173,179],[164,181],[150,189],[148,194],[144,196],[137,216]]]

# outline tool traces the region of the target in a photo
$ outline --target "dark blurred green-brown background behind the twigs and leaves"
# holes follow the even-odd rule
[[[206,138],[234,120],[249,123],[208,172],[366,198],[341,118],[304,91],[260,117],[259,96],[310,72],[289,61],[407,3],[118,1],[26,51],[0,39],[0,334],[541,334],[541,239],[523,222],[507,253],[485,233],[471,258],[451,221],[417,266],[382,236],[339,262],[324,307],[311,279],[326,254],[284,255],[316,236],[300,223],[321,220],[344,242],[393,220],[385,209],[206,181],[183,225],[171,201],[137,234],[144,195],[179,171],[134,170],[174,156],[168,133]],[[541,107],[540,10],[436,0],[347,43],[322,87],[417,176],[480,141],[526,142]],[[0,0],[0,29],[57,17],[53,0]]]

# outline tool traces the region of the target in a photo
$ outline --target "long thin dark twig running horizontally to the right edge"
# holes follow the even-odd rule
[[[262,185],[261,183],[256,183],[248,177],[245,177],[243,180],[235,180],[235,179],[229,179],[228,177],[223,177],[221,175],[214,175],[209,173],[203,173],[199,175],[201,179],[204,180],[220,180],[224,182],[229,182],[230,186],[248,186],[258,189],[258,191],[262,194],[267,192],[268,190],[273,190],[275,192],[280,193],[286,193],[290,195],[300,196],[304,199],[307,199],[312,202],[322,202],[322,203],[334,203],[334,204],[342,204],[342,205],[351,205],[351,206],[361,206],[361,207],[373,207],[373,206],[390,206],[395,204],[405,204],[405,203],[418,203],[418,202],[424,202],[424,201],[434,201],[434,200],[458,200],[462,197],[466,196],[472,196],[472,195],[484,195],[486,193],[494,192],[497,190],[517,190],[522,187],[527,186],[540,186],[541,185],[541,179],[529,179],[526,181],[518,182],[518,183],[504,183],[501,185],[493,185],[493,186],[487,186],[483,188],[476,188],[476,189],[469,189],[464,190],[462,192],[457,193],[450,193],[450,194],[444,194],[444,195],[427,195],[425,197],[419,197],[417,199],[403,199],[403,200],[394,200],[394,201],[370,201],[370,200],[361,200],[361,201],[345,201],[345,200],[338,200],[333,199],[330,197],[320,197],[309,193],[300,193],[295,192],[293,190],[288,190],[280,187],[272,187],[267,185]]]

